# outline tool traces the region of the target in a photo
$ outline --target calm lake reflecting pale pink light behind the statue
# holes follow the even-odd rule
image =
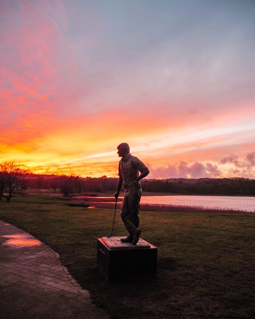
[[[113,198],[114,197],[95,197]],[[123,197],[119,197],[123,198]],[[142,196],[141,204],[171,204],[206,206],[210,208],[230,208],[243,211],[255,211],[255,197],[250,196],[199,196],[199,195],[174,195],[174,196]]]

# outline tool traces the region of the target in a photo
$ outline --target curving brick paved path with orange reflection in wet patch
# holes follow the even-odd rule
[[[1,319],[106,319],[60,263],[32,235],[0,221]]]

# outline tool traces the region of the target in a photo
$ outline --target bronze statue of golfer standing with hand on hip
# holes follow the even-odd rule
[[[122,184],[125,188],[124,198],[121,206],[120,216],[128,230],[128,237],[121,238],[123,242],[132,242],[136,245],[139,241],[141,229],[139,229],[139,209],[142,196],[140,180],[149,174],[149,169],[137,157],[129,153],[127,143],[121,143],[118,147],[121,157],[119,163],[119,180],[117,191],[114,194],[116,200],[119,197]],[[141,173],[139,176],[139,172]]]

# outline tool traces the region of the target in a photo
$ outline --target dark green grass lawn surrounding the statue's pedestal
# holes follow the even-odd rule
[[[114,210],[67,207],[47,195],[0,201],[0,219],[39,238],[113,318],[252,318],[254,215],[148,212],[143,238],[158,247],[157,278],[107,283],[96,268],[97,238]],[[116,214],[114,235],[125,235]],[[139,267],[139,265],[137,265]]]

